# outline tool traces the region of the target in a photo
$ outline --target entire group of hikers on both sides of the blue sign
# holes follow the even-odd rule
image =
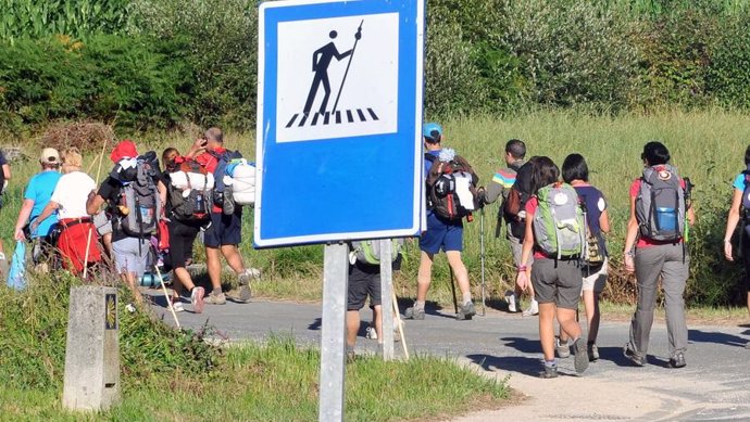
[[[610,231],[608,202],[590,184],[585,157],[570,154],[560,168],[547,156],[526,159],[525,143],[511,139],[504,148],[507,168],[498,170],[486,187],[479,187],[470,163],[454,150],[442,146],[443,129],[439,124],[424,124],[423,136],[427,227],[418,240],[416,299],[405,309],[405,318],[424,320],[433,261],[443,251],[461,291],[457,318],[472,319],[476,310],[468,271],[461,257],[463,220],[471,219],[474,210],[500,201],[499,228],[505,231],[517,271],[515,290],[505,297],[508,309],[520,311],[521,295],[528,295],[529,307],[523,315],[539,318],[541,378],[558,376],[555,355],[566,358],[573,354],[575,369],[583,373],[589,362],[599,359],[599,296],[607,282],[610,256],[604,236]],[[201,312],[207,303],[226,303],[227,296],[247,303],[251,296],[249,283],[260,272],[245,266],[238,245],[242,208],[253,201],[254,179],[246,183],[239,175],[254,178],[254,167],[241,159],[238,152],[226,150],[223,141],[221,129],[208,129],[185,154],[175,148],[164,150],[161,164],[154,152],[139,154],[135,143],[121,141],[110,154],[113,168],[99,186],[83,171],[78,150],[58,152],[45,148],[39,156],[40,171],[24,190],[14,238],[32,242],[33,261],[38,267],[52,263],[84,278],[109,257],[139,302],[139,278],[151,268],[158,270],[158,261],[163,260],[162,269],[174,271],[171,306],[175,310],[183,309],[183,296],[190,298],[196,312]],[[640,159],[643,171],[629,188],[623,251],[625,270],[634,272],[637,280],[638,299],[623,354],[636,366],[646,365],[661,280],[668,366],[683,368],[688,343],[683,295],[690,264],[685,242],[696,218],[690,202],[691,184],[670,164],[670,151],[661,142],[646,143]],[[750,146],[745,165],[749,170],[740,172],[733,183],[724,236],[728,260],[734,259],[732,240],[736,228],[750,227]],[[4,190],[11,169],[1,153],[0,167]],[[250,184],[253,190],[243,188]],[[499,234],[500,230],[496,232]],[[205,246],[212,287],[209,294],[195,284],[187,270],[199,235]],[[748,235],[743,233],[741,238]],[[367,335],[383,338],[377,245],[378,242],[370,241],[350,245],[350,357],[360,327],[359,312],[367,296],[374,310]],[[393,241],[395,267],[400,264],[399,248],[400,242]],[[740,242],[739,250],[750,273],[750,242]],[[237,277],[237,289],[227,293],[222,291],[222,256]],[[3,261],[7,264],[0,244],[0,263]],[[0,270],[8,276],[7,269]],[[750,292],[750,278],[747,283]],[[582,297],[586,335],[576,318]]]

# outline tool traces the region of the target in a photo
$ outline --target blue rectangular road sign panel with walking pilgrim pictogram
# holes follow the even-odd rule
[[[257,247],[420,233],[424,0],[260,7]]]

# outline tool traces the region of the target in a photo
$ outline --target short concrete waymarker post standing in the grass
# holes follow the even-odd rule
[[[71,289],[63,407],[99,411],[120,400],[117,291]]]

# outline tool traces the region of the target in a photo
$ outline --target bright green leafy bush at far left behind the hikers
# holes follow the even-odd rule
[[[177,43],[95,36],[20,40],[0,49],[0,124],[13,131],[53,119],[166,128],[192,85]]]

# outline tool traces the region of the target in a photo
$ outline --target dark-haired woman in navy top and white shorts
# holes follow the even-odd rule
[[[609,270],[607,243],[604,242],[603,233],[610,232],[610,217],[607,210],[604,194],[589,184],[588,165],[583,155],[571,154],[565,157],[562,177],[563,181],[572,186],[578,194],[585,217],[586,243],[584,244],[584,257],[582,259],[584,284],[580,295],[584,299],[586,322],[588,323],[586,349],[588,360],[592,362],[599,359],[599,347],[597,347],[599,321],[601,320],[599,295],[604,290],[607,271]],[[571,356],[571,346],[564,330],[560,330],[560,337],[555,348],[558,357],[566,358]]]

